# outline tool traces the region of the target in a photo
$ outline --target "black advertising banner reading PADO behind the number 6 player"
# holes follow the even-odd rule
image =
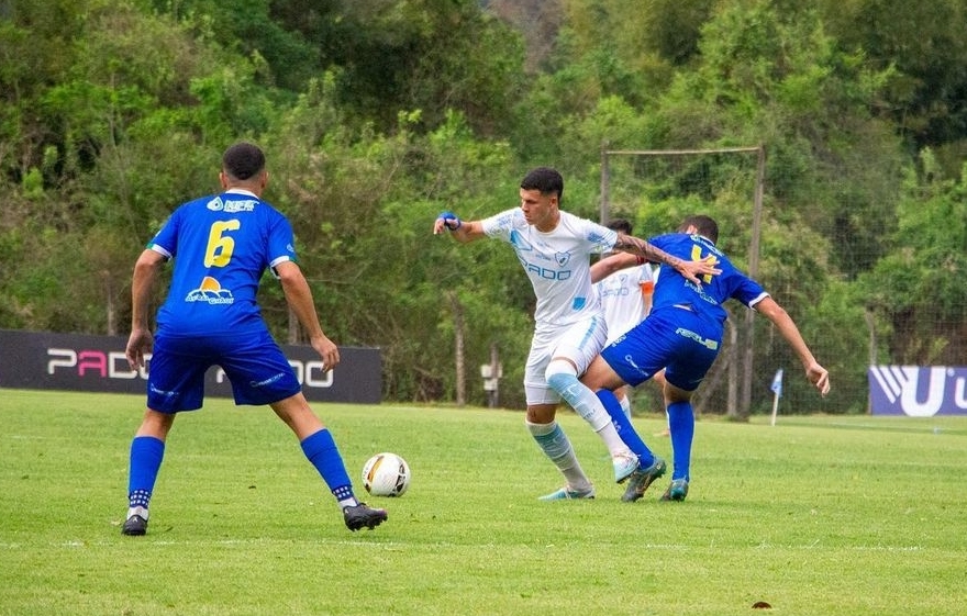
[[[0,329],[0,388],[145,393],[147,366],[132,370],[127,337]],[[314,402],[378,404],[382,397],[379,349],[340,347],[340,365],[325,372],[310,346],[284,345],[305,397]],[[205,395],[232,397],[220,368],[205,374]]]

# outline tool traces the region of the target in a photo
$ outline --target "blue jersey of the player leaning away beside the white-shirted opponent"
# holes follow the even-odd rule
[[[680,259],[698,260],[712,256],[716,261],[715,267],[722,270],[720,275],[702,277],[699,287],[678,270],[663,267],[655,284],[652,313],[670,306],[683,306],[721,327],[727,316],[722,307],[725,300],[732,298],[752,307],[768,295],[758,282],[736,269],[729,257],[705,237],[671,233],[652,237],[648,242]]]

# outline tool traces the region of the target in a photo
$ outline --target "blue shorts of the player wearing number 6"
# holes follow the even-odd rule
[[[157,334],[148,365],[147,407],[162,413],[201,408],[204,373],[220,366],[235,404],[264,405],[302,391],[268,332],[184,337]]]

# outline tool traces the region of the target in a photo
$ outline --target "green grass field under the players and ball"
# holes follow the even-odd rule
[[[960,417],[702,418],[688,500],[659,502],[663,478],[626,504],[560,413],[598,499],[542,503],[560,479],[521,413],[315,405],[357,491],[375,452],[413,472],[368,497],[389,522],[353,534],[271,411],[209,400],[176,422],[148,535],[122,537],[142,408],[0,390],[0,614],[967,612]],[[635,424],[669,457],[663,417]]]

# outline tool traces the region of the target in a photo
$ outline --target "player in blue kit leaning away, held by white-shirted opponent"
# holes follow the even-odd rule
[[[719,225],[704,215],[687,217],[677,233],[649,238],[649,243],[679,258],[711,257],[721,273],[705,276],[696,283],[671,268],[663,268],[647,318],[605,347],[581,377],[589,389],[576,397],[593,405],[591,392],[597,392],[622,439],[642,460],[622,496],[625,502],[641,499],[648,485],[665,473],[666,463],[635,433],[612,390],[637,385],[665,369],[663,391],[671,433],[673,473],[662,500],[683,501],[694,435],[691,396],[719,355],[726,318],[722,303],[730,298],[771,321],[799,357],[807,379],[822,395],[830,391],[830,373],[816,362],[796,323],[758,282],[732,265],[715,246],[718,238]]]

